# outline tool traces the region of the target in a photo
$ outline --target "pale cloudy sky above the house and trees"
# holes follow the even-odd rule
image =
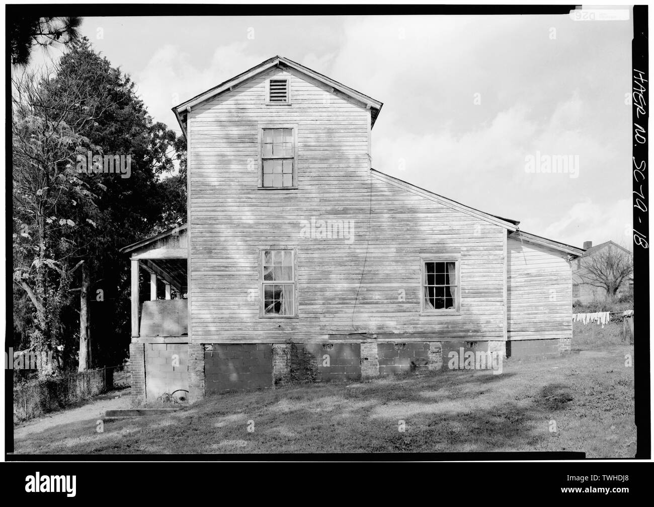
[[[85,18],[82,33],[175,130],[173,105],[279,54],[384,103],[375,169],[564,243],[630,244],[631,20]],[[553,156],[572,172],[527,172]]]

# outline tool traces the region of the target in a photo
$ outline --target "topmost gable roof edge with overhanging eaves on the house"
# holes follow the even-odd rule
[[[195,97],[192,97],[187,101],[182,102],[180,105],[176,105],[175,107],[173,107],[173,113],[175,113],[175,116],[177,117],[177,121],[179,122],[179,126],[182,128],[184,137],[186,137],[186,115],[188,114],[188,111],[190,111],[190,108],[194,107],[195,105],[198,105],[199,103],[207,99],[218,96],[228,90],[232,90],[234,86],[238,86],[239,84],[273,67],[286,67],[289,69],[295,69],[296,71],[304,73],[305,75],[308,75],[313,79],[316,79],[328,86],[331,86],[332,90],[338,90],[342,94],[345,94],[349,97],[352,97],[355,100],[358,100],[359,102],[363,103],[367,109],[371,110],[370,128],[372,128],[373,125],[375,124],[375,120],[379,115],[379,111],[381,111],[381,107],[383,106],[383,103],[373,99],[370,96],[367,96],[366,94],[362,94],[361,92],[354,90],[354,88],[345,86],[345,84],[343,83],[340,83],[330,77],[320,74],[319,72],[309,69],[309,67],[305,67],[304,65],[301,65],[301,63],[277,55],[277,56],[273,56],[273,58],[269,58],[268,60],[262,61],[261,63],[259,63],[259,65],[255,65],[251,69],[248,69],[247,71],[242,72],[239,75],[232,77],[231,79],[223,81],[220,84],[214,86],[213,88],[209,88],[209,90],[202,92],[201,94],[198,94]]]

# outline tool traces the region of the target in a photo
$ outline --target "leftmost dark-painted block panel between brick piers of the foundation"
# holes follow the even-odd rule
[[[269,343],[214,343],[205,347],[204,360],[207,394],[273,385],[273,347]]]

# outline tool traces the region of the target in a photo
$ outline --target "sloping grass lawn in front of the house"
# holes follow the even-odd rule
[[[588,328],[588,326],[586,326]],[[633,347],[610,334],[550,360],[368,383],[228,393],[165,417],[71,421],[16,438],[16,453],[582,451],[633,457]],[[596,330],[597,331],[597,330]],[[254,431],[248,428],[254,423]],[[399,430],[400,421],[405,431]],[[553,429],[553,422],[556,431]]]

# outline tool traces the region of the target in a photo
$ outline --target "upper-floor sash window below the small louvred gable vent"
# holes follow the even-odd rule
[[[290,127],[262,129],[260,188],[295,188],[295,132]]]

